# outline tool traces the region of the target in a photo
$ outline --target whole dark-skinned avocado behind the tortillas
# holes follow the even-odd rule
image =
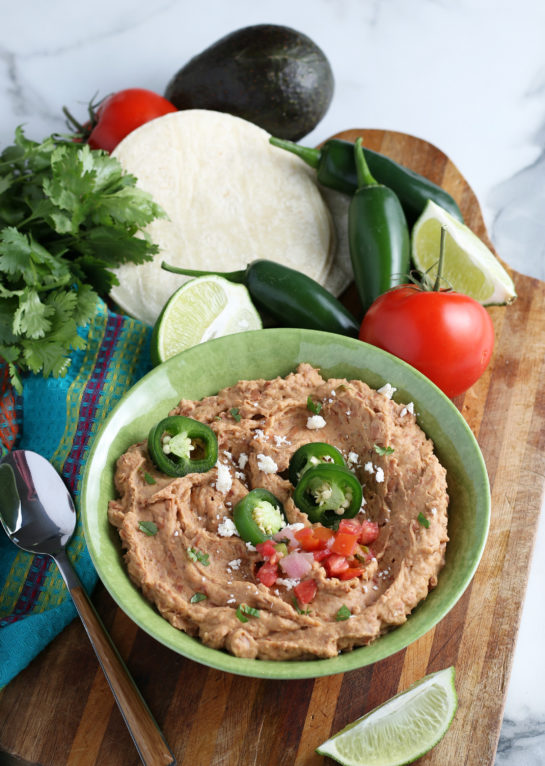
[[[289,27],[257,24],[194,56],[165,98],[178,109],[228,112],[298,141],[327,112],[333,90],[331,66],[316,43]]]

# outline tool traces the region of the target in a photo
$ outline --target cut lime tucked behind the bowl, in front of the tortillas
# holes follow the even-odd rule
[[[262,326],[244,285],[214,275],[196,277],[165,304],[153,328],[151,358],[160,364],[210,338]]]

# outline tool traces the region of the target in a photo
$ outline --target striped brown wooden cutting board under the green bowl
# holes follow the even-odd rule
[[[444,186],[489,245],[474,193],[437,148],[392,131],[354,140]],[[94,600],[183,766],[325,766],[330,734],[426,673],[456,667],[459,709],[421,764],[490,765],[499,736],[545,476],[545,283],[514,273],[518,299],[491,309],[492,363],[457,406],[483,451],[492,519],[480,566],[436,628],[376,665],[313,680],[228,675],[139,630],[102,586]],[[348,302],[353,300],[350,291]],[[0,747],[41,766],[136,766],[136,751],[79,621],[0,694]],[[0,757],[0,761],[2,758]]]

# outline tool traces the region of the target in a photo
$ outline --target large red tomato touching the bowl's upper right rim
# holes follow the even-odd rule
[[[452,290],[415,285],[379,296],[359,337],[404,359],[450,397],[481,377],[494,348],[492,320],[480,303]]]

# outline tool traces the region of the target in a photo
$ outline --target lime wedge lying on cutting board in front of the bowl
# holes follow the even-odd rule
[[[344,766],[402,766],[431,750],[456,712],[454,668],[425,676],[316,748]]]

